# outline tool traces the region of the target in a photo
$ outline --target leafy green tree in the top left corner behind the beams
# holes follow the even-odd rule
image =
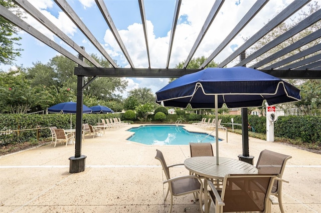
[[[0,4],[14,12],[18,16],[22,13],[17,9],[18,6],[11,0],[0,0]],[[21,39],[18,34],[19,28],[0,15],[0,63],[13,64],[17,56],[20,56],[23,49],[15,48],[15,45],[21,45],[18,41]]]

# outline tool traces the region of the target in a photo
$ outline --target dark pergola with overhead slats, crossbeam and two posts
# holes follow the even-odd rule
[[[197,51],[199,45],[201,44],[204,36],[206,35],[208,29],[212,22],[217,17],[220,12],[224,0],[216,0],[199,32],[197,39],[195,40],[193,47],[190,50],[188,57],[185,60],[184,67],[182,69],[169,68],[172,47],[175,37],[175,31],[178,19],[180,17],[180,7],[182,0],[176,0],[176,6],[172,22],[172,30],[169,42],[169,50],[166,61],[166,67],[164,68],[151,68],[150,66],[150,55],[149,55],[149,43],[146,28],[146,16],[144,9],[144,1],[138,0],[141,22],[143,25],[143,33],[145,39],[145,49],[147,52],[148,67],[147,68],[135,68],[134,64],[127,52],[126,46],[122,41],[118,30],[113,22],[112,17],[108,12],[108,8],[103,0],[95,0],[97,7],[99,8],[101,15],[104,17],[106,23],[109,26],[114,38],[116,39],[121,51],[123,52],[125,58],[130,65],[130,68],[118,67],[112,57],[106,52],[104,47],[98,42],[94,34],[90,32],[84,22],[81,20],[79,15],[73,10],[69,5],[67,0],[54,0],[55,3],[65,12],[65,14],[74,22],[74,24],[80,29],[80,31],[88,38],[88,40],[97,48],[97,50],[110,62],[112,67],[102,67],[96,60],[94,60],[82,46],[79,46],[71,38],[69,38],[62,30],[59,29],[53,22],[51,22],[45,15],[43,15],[38,9],[36,9],[28,0],[13,0],[17,5],[23,8],[26,12],[36,18],[40,23],[42,23],[46,28],[52,31],[56,36],[62,39],[66,44],[76,50],[79,57],[76,57],[71,52],[64,49],[58,43],[55,43],[50,38],[42,34],[36,28],[29,25],[22,18],[18,17],[5,7],[0,5],[0,14],[11,21],[13,24],[19,26],[22,30],[33,35],[38,40],[57,50],[61,54],[70,58],[78,64],[75,67],[74,74],[77,75],[77,114],[76,114],[76,145],[75,145],[75,156],[70,157],[70,172],[80,172],[85,169],[85,155],[81,154],[81,128],[82,128],[82,103],[83,103],[83,89],[88,86],[93,80],[98,76],[108,76],[108,77],[180,77],[184,74],[192,73],[203,69],[208,63],[210,63],[216,56],[224,49],[235,36],[240,33],[243,28],[257,15],[257,13],[266,5],[268,0],[257,0],[248,11],[244,11],[244,16],[231,32],[225,37],[225,39],[218,45],[213,47],[213,52],[210,55],[205,55],[207,57],[206,61],[197,69],[187,68],[189,62],[191,61],[193,55]],[[276,26],[286,21],[291,15],[300,10],[305,6],[310,0],[294,0],[286,8],[280,11],[271,20],[266,20],[266,24],[258,29],[251,37],[249,37],[241,46],[235,49],[228,57],[226,57],[222,62],[219,63],[219,67],[224,67],[230,63],[235,58],[239,57],[240,62],[235,64],[235,66],[247,66],[261,70],[263,72],[269,73],[279,78],[298,78],[298,79],[321,79],[321,44],[315,44],[311,47],[306,47],[306,44],[315,42],[319,37],[321,37],[321,29],[311,31],[306,33],[305,36],[301,37],[299,40],[293,42],[292,44],[276,51],[273,54],[264,56],[266,52],[274,47],[278,46],[280,43],[287,39],[293,38],[297,33],[310,27],[312,24],[317,23],[321,19],[321,9],[315,11],[307,18],[301,20],[298,24],[294,25],[292,28],[288,29],[286,33],[275,37],[272,41],[266,43],[257,51],[252,54],[246,55],[250,47],[260,40],[264,35],[272,31]],[[317,42],[316,42],[317,43]],[[300,51],[295,51],[300,48]],[[294,52],[288,56],[288,53]],[[262,59],[262,56],[264,57]],[[84,58],[90,61],[94,67],[90,67],[84,62]],[[260,58],[258,62],[253,63],[255,59]],[[284,58],[284,59],[279,59]],[[88,78],[84,78],[87,76]],[[87,79],[87,82],[85,82]],[[246,110],[246,109],[245,109]],[[242,110],[244,114],[244,110]],[[246,118],[247,119],[247,118]],[[247,121],[245,123],[246,126]],[[243,157],[249,158],[248,152],[248,134],[247,128],[243,128]],[[247,140],[247,141],[246,141]],[[247,143],[247,145],[246,145]],[[245,145],[245,146],[244,146]]]

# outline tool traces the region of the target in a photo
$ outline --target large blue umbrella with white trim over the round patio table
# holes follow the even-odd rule
[[[300,90],[280,78],[265,72],[236,66],[206,68],[183,75],[156,92],[156,102],[164,106],[186,108],[215,108],[262,106],[293,102],[301,99]],[[216,128],[216,156],[218,163],[218,128]]]

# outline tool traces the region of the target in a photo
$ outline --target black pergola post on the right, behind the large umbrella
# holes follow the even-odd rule
[[[240,60],[242,61],[245,59],[245,52],[240,54]],[[239,160],[251,163],[253,165],[254,156],[250,156],[249,152],[249,131],[247,128],[248,125],[248,116],[247,116],[247,108],[241,109],[242,113],[242,146],[243,146],[243,153],[239,154]]]

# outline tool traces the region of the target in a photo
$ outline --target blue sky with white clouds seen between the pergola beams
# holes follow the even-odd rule
[[[101,56],[99,51],[53,0],[29,1],[79,46],[84,46],[88,53],[95,53]],[[116,40],[113,38],[95,0],[67,0],[67,2],[86,24],[88,29],[95,35],[108,54],[116,60],[116,63],[120,67],[130,67]],[[147,68],[147,52],[138,1],[104,0],[104,2],[134,66],[136,68]],[[143,2],[147,21],[151,68],[165,68],[176,1],[144,0]],[[208,57],[232,31],[254,2],[254,0],[225,0],[217,18],[211,24],[210,29],[193,57]],[[268,1],[264,8],[259,11],[257,17],[251,20],[222,52],[214,58],[214,61],[217,63],[223,61],[233,50],[244,43],[244,38],[252,36],[257,30],[263,27],[269,19],[272,19],[277,12],[291,2],[292,0]],[[170,68],[186,60],[213,4],[214,0],[182,0],[179,13],[180,18],[173,42]],[[74,55],[78,55],[75,50],[29,14],[26,15],[25,21]],[[24,50],[21,52],[21,57],[17,57],[15,62],[17,65],[32,67],[33,63],[38,61],[45,64],[49,62],[52,57],[60,54],[24,31],[19,32],[19,36],[22,37],[19,41],[22,45],[19,47]],[[228,64],[228,66],[233,66],[233,62]],[[15,66],[0,64],[0,69],[4,71],[10,67],[14,68]],[[128,80],[126,91],[139,87],[147,87],[151,88],[152,92],[156,92],[168,84],[168,78],[126,78],[126,80]],[[124,92],[123,96],[126,97],[126,94],[127,93]]]

